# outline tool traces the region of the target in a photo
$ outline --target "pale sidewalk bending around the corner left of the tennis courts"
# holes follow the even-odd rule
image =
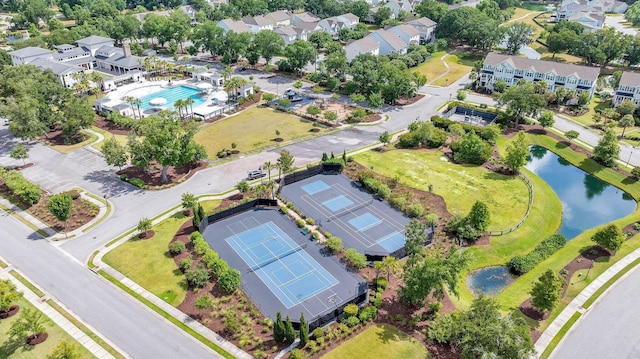
[[[237,192],[237,191],[232,191],[232,192],[221,194],[221,195],[202,196],[202,197],[199,197],[198,200],[201,201],[201,200],[205,200],[205,199],[206,200],[222,199],[224,197],[227,197],[227,196],[233,194],[234,192]],[[167,213],[164,213],[163,215],[155,218],[153,220],[153,224],[154,225],[158,224],[158,223],[162,222],[163,220],[173,216],[175,213],[178,213],[180,211],[182,211],[182,207],[180,205],[175,206],[172,210],[167,211]],[[128,233],[128,232],[125,232],[125,233]],[[136,233],[136,232],[134,230],[131,233]],[[104,257],[105,254],[107,254],[110,250],[118,247],[118,245],[128,241],[130,237],[131,237],[130,234],[126,234],[120,240],[118,240],[116,243],[111,244],[109,247],[102,246],[101,248],[98,248],[98,254],[96,254],[96,256],[93,258],[93,264],[95,265],[95,267],[92,268],[91,270],[93,270],[96,273],[98,273],[99,270],[105,271],[107,274],[109,274],[110,276],[112,276],[113,278],[118,280],[120,283],[124,284],[127,288],[131,289],[136,294],[138,294],[141,297],[145,298],[146,300],[150,301],[155,306],[157,306],[158,308],[163,310],[165,313],[171,315],[175,319],[179,320],[184,325],[189,326],[191,329],[196,331],[198,334],[204,336],[205,338],[207,338],[208,340],[210,340],[211,342],[213,342],[214,344],[216,344],[220,348],[224,349],[226,352],[228,352],[229,354],[231,354],[235,358],[238,358],[238,359],[251,359],[252,356],[249,355],[247,352],[245,352],[242,349],[236,347],[235,345],[233,345],[233,343],[228,342],[226,339],[224,339],[223,337],[221,337],[217,333],[211,331],[209,328],[205,327],[204,325],[200,324],[199,322],[197,322],[193,318],[191,318],[188,315],[184,314],[179,309],[173,307],[169,303],[167,303],[164,300],[158,298],[155,294],[153,294],[153,293],[149,292],[148,290],[144,289],[143,287],[141,287],[140,285],[138,285],[137,283],[135,283],[131,279],[127,278],[125,275],[123,275],[122,273],[118,272],[117,270],[111,268],[108,264],[106,264],[106,263],[104,263],[102,261],[102,257]],[[152,309],[149,308],[149,310],[152,310]],[[188,333],[185,333],[185,335],[189,336],[191,339],[193,339],[195,341],[198,341],[196,338],[193,338]],[[212,356],[215,357],[215,358],[221,358],[221,359],[223,358],[222,355],[218,354],[217,352],[214,352],[213,350],[211,351],[211,353],[212,353]]]

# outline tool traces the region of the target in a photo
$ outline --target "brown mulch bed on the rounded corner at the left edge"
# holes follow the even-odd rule
[[[75,191],[68,191],[68,193],[71,192]],[[29,204],[21,201],[20,198],[15,197],[8,187],[5,184],[2,184],[0,185],[0,195],[5,198],[10,198],[14,202],[17,202],[20,208],[28,211],[31,215],[38,218],[44,224],[61,233],[71,232],[82,227],[83,225],[94,219],[100,212],[100,209],[95,204],[83,198],[74,199],[73,205],[71,207],[71,215],[69,216],[69,220],[67,220],[67,224],[65,227],[65,223],[58,221],[55,216],[49,211],[49,208],[47,208],[47,202],[49,200],[48,193],[43,192],[40,201],[35,204]]]

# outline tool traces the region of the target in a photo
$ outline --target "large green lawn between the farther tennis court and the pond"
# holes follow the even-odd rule
[[[475,165],[458,165],[438,150],[392,150],[365,152],[354,159],[377,173],[444,197],[452,214],[466,215],[476,200],[491,210],[491,230],[517,224],[527,211],[527,186],[518,178],[504,176]]]

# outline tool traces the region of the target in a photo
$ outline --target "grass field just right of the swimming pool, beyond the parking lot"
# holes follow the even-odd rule
[[[254,107],[204,127],[196,134],[195,140],[205,146],[209,158],[216,159],[218,151],[223,148],[231,150],[232,142],[237,145],[237,150],[247,152],[277,144],[273,141],[276,137],[289,141],[309,136],[311,128],[311,122],[297,116]],[[276,130],[280,131],[280,136],[276,136]],[[324,132],[322,130],[316,135]]]

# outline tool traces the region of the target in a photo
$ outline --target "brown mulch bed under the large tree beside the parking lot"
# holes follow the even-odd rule
[[[141,179],[144,181],[145,187],[147,186],[163,187],[167,185],[177,184],[179,181],[188,180],[189,178],[191,178],[191,176],[196,174],[196,172],[207,168],[207,162],[200,161],[196,164],[189,163],[189,164],[178,166],[178,167],[173,167],[173,166],[169,167],[169,170],[167,171],[167,178],[168,178],[167,182],[162,182],[162,172],[161,172],[162,167],[160,165],[158,165],[155,162],[152,162],[149,165],[149,168],[150,169],[145,170],[142,167],[129,166],[116,173],[118,175],[126,175],[127,178],[129,179],[131,178]]]

